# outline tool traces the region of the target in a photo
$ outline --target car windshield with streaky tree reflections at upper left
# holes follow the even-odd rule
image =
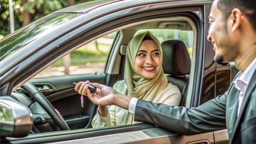
[[[81,14],[49,14],[20,28],[15,31],[15,35],[8,35],[1,41],[0,60],[2,61],[12,53],[27,46],[38,37],[47,35],[49,31],[46,31],[46,29],[54,29],[78,16],[81,16]]]

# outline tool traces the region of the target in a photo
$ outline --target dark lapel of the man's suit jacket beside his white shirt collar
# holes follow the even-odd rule
[[[243,116],[243,113],[246,112],[246,103],[249,103],[249,100],[250,100],[250,96],[251,96],[251,93],[252,91],[254,90],[255,88],[255,84],[256,84],[256,73],[254,71],[254,74],[252,75],[252,79],[251,81],[249,82],[249,85],[248,85],[248,88],[246,90],[246,93],[245,93],[245,96],[243,98],[243,102],[242,102],[242,106],[241,106],[241,109],[240,109],[240,113],[239,113],[239,117],[237,119],[237,121],[234,121],[235,122],[235,125],[234,125],[234,131],[233,131],[233,134],[231,135],[230,137],[230,140],[231,142],[233,142],[233,139],[234,139],[234,135],[239,132],[237,130],[240,130],[240,128],[238,127],[240,125],[240,123],[242,122],[241,119],[244,117]],[[237,103],[236,103],[237,104]],[[237,104],[238,105],[238,104]],[[234,114],[234,113],[233,113]],[[236,119],[236,118],[235,118]]]

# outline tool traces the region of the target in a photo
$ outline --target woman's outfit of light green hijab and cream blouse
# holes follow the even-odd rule
[[[150,32],[136,35],[132,38],[127,46],[126,63],[124,65],[124,80],[117,81],[113,88],[121,94],[140,98],[146,101],[152,101],[154,103],[168,104],[169,97],[173,97],[172,95],[178,95],[179,97],[177,99],[177,104],[179,104],[180,91],[178,90],[177,86],[167,85],[167,77],[163,73],[162,62],[160,65],[160,70],[153,79],[146,79],[136,72],[135,57],[142,41],[144,40],[153,40],[159,48],[161,58],[163,58],[162,47],[154,35],[152,35]],[[109,115],[105,118],[104,121],[101,121],[100,118],[97,119],[98,120],[96,120],[95,116],[92,122],[93,127],[106,127],[138,123],[133,121],[133,114],[129,113],[128,110],[114,105],[109,106]]]

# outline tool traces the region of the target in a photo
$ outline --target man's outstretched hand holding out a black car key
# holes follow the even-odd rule
[[[97,88],[95,93],[91,93],[88,89],[89,85],[93,85]],[[79,82],[75,86],[75,91],[79,94],[87,96],[94,104],[99,106],[109,106],[114,104],[115,94],[117,93],[113,88],[101,85],[99,83]]]

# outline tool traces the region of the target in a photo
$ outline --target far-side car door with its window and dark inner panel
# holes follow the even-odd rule
[[[72,130],[90,128],[97,109],[97,106],[91,103],[86,96],[81,96],[75,91],[73,83],[89,80],[109,85],[109,80],[106,80],[105,67],[112,44],[114,40],[118,40],[117,37],[117,32],[113,32],[105,37],[97,38],[59,59],[29,80],[61,113]],[[81,97],[84,98],[83,104]]]

